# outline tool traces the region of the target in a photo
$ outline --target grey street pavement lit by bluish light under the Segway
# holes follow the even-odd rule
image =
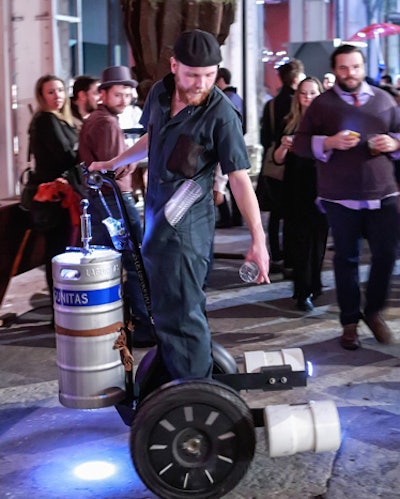
[[[246,227],[217,230],[207,289],[213,339],[233,355],[240,370],[244,352],[301,347],[314,366],[307,387],[241,395],[252,408],[331,400],[338,409],[341,443],[337,451],[270,458],[265,428],[257,428],[250,468],[225,497],[400,498],[400,261],[384,314],[398,343],[379,344],[360,324],[362,348],[351,352],[338,344],[333,251],[326,253],[323,295],[306,314],[295,308],[292,284],[282,274],[273,274],[270,285],[240,281],[238,269],[248,242]],[[365,250],[363,282],[367,262]],[[43,269],[12,280],[0,315],[9,312],[18,317],[0,328],[1,496],[156,498],[133,468],[129,427],[113,407],[67,409],[58,401],[55,334],[49,325]],[[135,352],[136,365],[145,352]],[[91,460],[114,465],[115,473],[106,480],[78,478],[75,466]]]

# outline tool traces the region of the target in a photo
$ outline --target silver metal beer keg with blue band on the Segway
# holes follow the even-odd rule
[[[125,397],[125,371],[113,349],[123,325],[121,255],[109,248],[52,260],[59,398],[97,409]]]

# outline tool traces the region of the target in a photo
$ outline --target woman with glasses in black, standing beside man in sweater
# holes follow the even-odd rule
[[[300,82],[292,100],[274,161],[285,164],[284,221],[293,256],[294,297],[297,308],[313,310],[312,301],[321,295],[321,269],[328,237],[326,216],[316,205],[315,161],[291,152],[293,134],[311,102],[322,93],[321,82],[312,76]]]

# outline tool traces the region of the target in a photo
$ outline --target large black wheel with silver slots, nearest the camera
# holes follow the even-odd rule
[[[218,498],[245,475],[254,455],[249,407],[213,380],[178,380],[138,407],[130,451],[143,483],[162,498]]]

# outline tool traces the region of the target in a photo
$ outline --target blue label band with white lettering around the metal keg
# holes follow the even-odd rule
[[[64,307],[93,307],[121,299],[121,285],[110,288],[78,291],[54,288],[54,302]]]

